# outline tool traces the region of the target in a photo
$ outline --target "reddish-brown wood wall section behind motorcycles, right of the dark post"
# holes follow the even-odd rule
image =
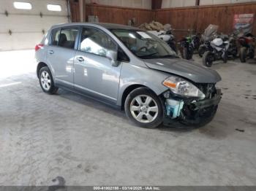
[[[233,17],[235,14],[255,14],[253,33],[256,33],[256,3],[248,4],[228,4],[203,7],[185,7],[171,9],[157,9],[155,20],[160,23],[170,23],[173,28],[193,29],[203,33],[209,24],[219,26],[219,31],[225,34],[232,32]],[[178,31],[176,32],[178,34]],[[181,32],[178,37],[186,33]]]

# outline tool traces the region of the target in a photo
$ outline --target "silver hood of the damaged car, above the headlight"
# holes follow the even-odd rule
[[[196,83],[216,83],[222,79],[217,71],[181,58],[145,59],[144,62],[150,69],[176,74]]]

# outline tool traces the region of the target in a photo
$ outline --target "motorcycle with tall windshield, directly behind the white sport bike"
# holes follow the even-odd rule
[[[198,55],[202,58],[204,52],[212,51],[211,41],[216,39],[219,26],[209,25],[201,37],[201,45],[198,48]]]

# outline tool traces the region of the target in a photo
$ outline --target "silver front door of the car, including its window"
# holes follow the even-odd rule
[[[92,96],[116,103],[121,64],[111,65],[108,53],[118,46],[104,31],[84,27],[75,54],[74,87]]]

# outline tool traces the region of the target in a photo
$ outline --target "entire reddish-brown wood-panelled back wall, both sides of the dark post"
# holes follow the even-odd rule
[[[157,0],[158,1],[158,0]],[[72,21],[79,22],[79,5],[71,1]],[[134,9],[126,7],[111,7],[99,4],[86,4],[86,18],[97,15],[99,22],[127,25],[128,20],[136,18],[136,26],[157,20],[160,23],[170,23],[176,29],[193,29],[203,33],[209,24],[219,26],[219,31],[225,34],[232,32],[235,14],[255,14],[253,33],[256,34],[256,3],[222,4],[214,6],[183,7],[170,9]],[[177,39],[187,36],[186,31],[176,31]]]

